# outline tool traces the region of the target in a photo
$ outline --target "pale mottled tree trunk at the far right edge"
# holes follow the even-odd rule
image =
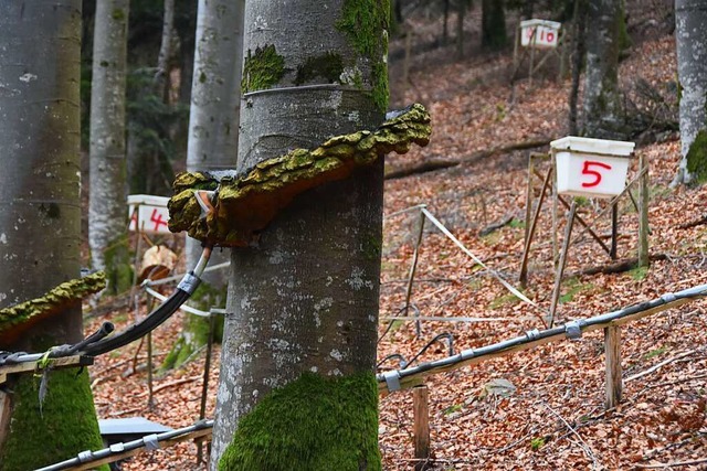
[[[673,186],[707,179],[707,1],[675,1],[683,159]]]

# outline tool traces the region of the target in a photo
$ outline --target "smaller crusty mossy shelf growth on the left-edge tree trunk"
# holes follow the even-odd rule
[[[60,314],[68,306],[106,287],[103,271],[63,282],[41,298],[0,309],[0,345],[14,343],[36,322]]]

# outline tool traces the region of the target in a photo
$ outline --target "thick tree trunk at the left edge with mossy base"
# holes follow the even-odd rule
[[[0,7],[0,308],[80,276],[81,1]],[[38,351],[82,336],[81,307],[2,350]],[[0,470],[25,471],[102,446],[88,376],[21,376],[3,388]],[[6,416],[7,417],[7,416]]]

